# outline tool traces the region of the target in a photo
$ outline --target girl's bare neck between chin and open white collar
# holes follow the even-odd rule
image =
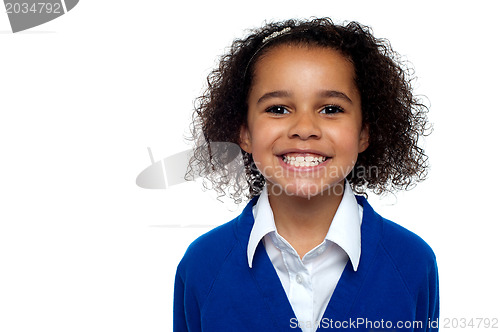
[[[272,184],[268,184],[270,186]],[[340,205],[344,193],[344,181],[310,198],[269,192],[278,233],[283,236],[302,258],[308,251],[321,244]],[[340,194],[339,194],[340,193]]]

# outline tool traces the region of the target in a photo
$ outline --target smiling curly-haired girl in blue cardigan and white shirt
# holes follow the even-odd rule
[[[199,99],[191,166],[251,200],[186,251],[174,331],[437,331],[431,248],[353,193],[424,179],[427,108],[409,81],[355,22],[271,23],[233,43]],[[245,172],[214,142],[238,144]]]

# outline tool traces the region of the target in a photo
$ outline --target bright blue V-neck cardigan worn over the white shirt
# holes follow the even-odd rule
[[[318,331],[437,331],[438,275],[432,249],[378,215],[364,197],[356,199],[363,206],[359,267],[355,272],[347,263],[316,322]],[[301,332],[262,242],[248,267],[256,201],[187,249],[175,277],[174,332]]]

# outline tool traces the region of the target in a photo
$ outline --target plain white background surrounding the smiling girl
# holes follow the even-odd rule
[[[157,160],[189,148],[193,99],[245,29],[310,16],[369,25],[413,63],[435,129],[429,179],[397,199],[369,199],[433,247],[441,324],[500,318],[494,7],[82,0],[18,34],[2,8],[0,331],[171,330],[178,261],[240,208],[199,183],[137,187],[147,147]]]

